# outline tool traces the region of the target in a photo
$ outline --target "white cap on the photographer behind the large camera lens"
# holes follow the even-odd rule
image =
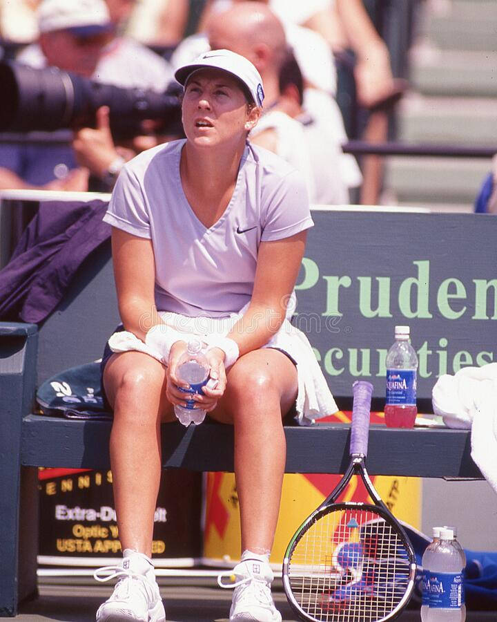
[[[90,36],[112,28],[105,0],[42,0],[38,8],[40,32],[70,30]]]

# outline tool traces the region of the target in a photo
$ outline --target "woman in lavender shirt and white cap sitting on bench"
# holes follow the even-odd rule
[[[313,222],[300,175],[247,141],[264,97],[251,62],[214,50],[176,77],[186,140],[128,162],[104,218],[113,225],[124,331],[102,361],[124,558],[97,621],[166,619],[150,560],[160,424],[185,405],[177,361],[187,334],[199,334],[218,384],[204,387],[196,405],[235,432],[242,558],[230,619],[277,622],[269,554],[286,455],[282,418],[336,410],[309,341],[288,321]]]

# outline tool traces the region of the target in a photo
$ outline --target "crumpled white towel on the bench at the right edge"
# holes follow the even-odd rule
[[[440,376],[433,412],[449,428],[471,428],[471,458],[497,493],[497,363]]]

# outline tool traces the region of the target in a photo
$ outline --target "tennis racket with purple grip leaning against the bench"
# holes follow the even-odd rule
[[[372,391],[369,382],[353,384],[349,467],[286,549],[284,590],[302,620],[393,620],[413,591],[413,548],[374,489],[364,464]],[[337,502],[354,476],[362,479],[372,503]]]

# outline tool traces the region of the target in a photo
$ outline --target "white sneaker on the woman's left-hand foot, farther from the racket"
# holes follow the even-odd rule
[[[93,576],[101,582],[118,579],[112,596],[97,611],[97,622],[166,622],[153,565],[145,555],[125,549],[119,565],[99,568]]]

